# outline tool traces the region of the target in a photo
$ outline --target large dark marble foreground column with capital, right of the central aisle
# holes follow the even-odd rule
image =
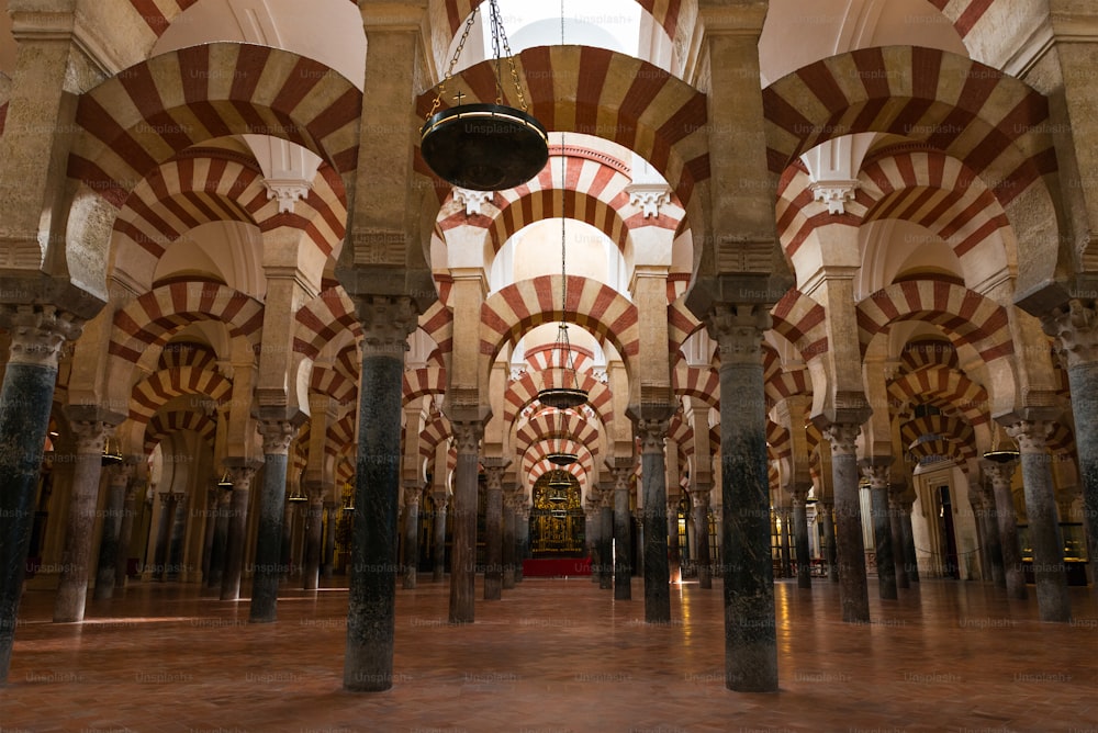
[[[717,305],[706,318],[720,356],[725,687],[777,690],[774,566],[770,559],[764,306]]]

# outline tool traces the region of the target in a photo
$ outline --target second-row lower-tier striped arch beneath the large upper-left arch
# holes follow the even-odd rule
[[[219,283],[164,285],[145,293],[114,315],[109,352],[137,363],[145,349],[199,320],[224,323],[229,335],[243,336],[256,347],[262,335],[264,305]]]

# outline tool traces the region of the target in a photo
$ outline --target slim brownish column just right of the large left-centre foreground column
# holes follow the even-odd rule
[[[458,464],[453,472],[450,510],[453,546],[450,550],[450,623],[475,620],[477,595],[477,484],[482,420],[450,420]]]

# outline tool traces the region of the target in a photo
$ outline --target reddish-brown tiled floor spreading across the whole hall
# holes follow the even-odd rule
[[[527,578],[477,623],[446,624],[448,587],[397,596],[396,685],[341,690],[345,590],[287,589],[279,622],[195,586],[136,585],[49,622],[29,590],[0,731],[1083,731],[1098,732],[1098,605],[1037,621],[1037,601],[923,582],[838,618],[838,590],[777,584],[781,691],[722,685],[721,590],[675,586],[646,625],[642,583],[617,601],[589,579]],[[871,580],[871,596],[876,585]],[[1032,587],[1031,587],[1032,595]]]

